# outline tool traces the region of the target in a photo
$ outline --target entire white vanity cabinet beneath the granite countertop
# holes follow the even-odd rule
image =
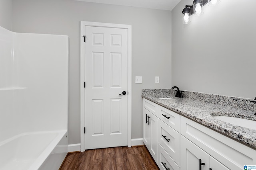
[[[255,149],[145,98],[143,113],[143,141],[161,170],[242,170],[255,165]]]

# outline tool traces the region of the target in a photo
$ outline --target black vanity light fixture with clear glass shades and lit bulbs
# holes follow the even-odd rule
[[[200,16],[203,14],[203,6],[205,4],[209,6],[215,6],[220,3],[220,0],[194,0],[193,5],[186,5],[186,8],[182,10],[182,22],[183,24],[188,24],[191,21],[191,16]]]

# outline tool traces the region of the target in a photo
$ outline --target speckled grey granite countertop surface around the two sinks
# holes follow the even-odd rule
[[[228,115],[256,121],[253,111],[212,104],[191,98],[177,98],[170,94],[142,93],[142,97],[256,149],[256,130],[226,123],[211,116],[211,114]],[[157,99],[159,97],[174,98],[174,100]]]

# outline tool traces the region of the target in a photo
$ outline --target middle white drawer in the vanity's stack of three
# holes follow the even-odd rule
[[[180,133],[161,120],[158,121],[158,143],[180,166]]]

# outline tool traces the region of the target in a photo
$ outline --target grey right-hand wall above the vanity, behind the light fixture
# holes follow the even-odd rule
[[[221,0],[182,24],[182,0],[172,10],[172,85],[243,98],[256,96],[255,0]]]

